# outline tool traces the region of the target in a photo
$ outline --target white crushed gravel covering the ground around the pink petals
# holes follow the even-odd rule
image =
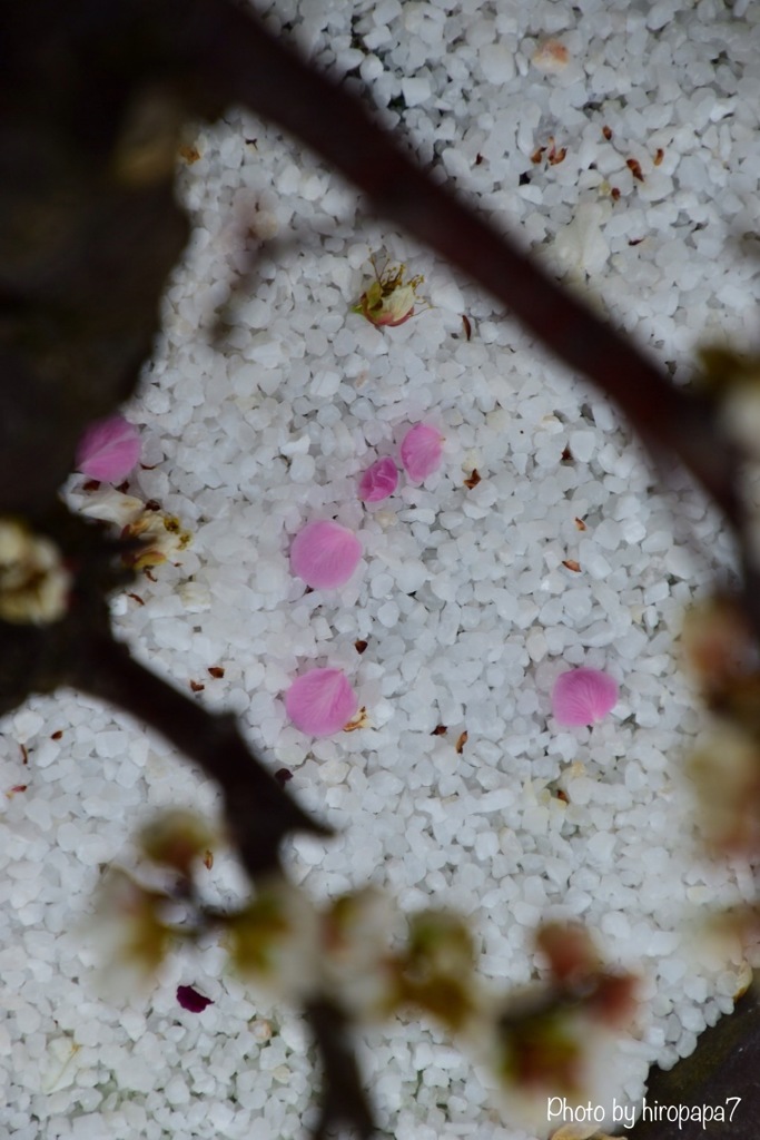
[[[757,334],[760,277],[741,243],[760,226],[757,6],[259,8],[663,366],[688,377],[695,345]],[[537,55],[554,39],[569,48],[558,70]],[[532,162],[550,139],[564,160],[545,149]],[[188,693],[203,683],[196,700],[238,712],[272,768],[294,772],[300,801],[335,825],[334,841],[288,852],[316,897],[369,880],[409,909],[458,907],[496,988],[533,974],[541,918],[583,921],[608,962],[639,970],[646,1000],[607,1084],[638,1105],[648,1066],[688,1052],[742,978],[739,962],[690,945],[695,914],[747,897],[752,881],[697,858],[679,772],[703,726],[678,668],[680,614],[730,564],[728,537],[681,475],[652,489],[659,473],[582,377],[369,217],[312,154],[235,109],[197,147],[179,176],[195,234],[128,409],[148,465],[131,492],[158,498],[195,542],[181,565],[133,587],[144,605],[115,600],[119,634]],[[258,251],[247,274],[246,233]],[[432,300],[397,329],[350,311],[379,249],[424,274]],[[213,347],[220,316],[228,332]],[[419,420],[446,438],[442,469],[365,510],[359,475]],[[317,516],[360,534],[365,565],[344,589],[307,595],[287,551]],[[325,665],[348,673],[369,727],[312,742],[286,722],[283,690]],[[621,700],[595,728],[567,732],[549,693],[579,665],[607,669]],[[432,735],[440,724],[446,735]],[[125,1004],[93,988],[80,928],[101,864],[129,862],[149,809],[213,814],[213,784],[71,692],[2,727],[3,1134],[301,1137],[317,1078],[297,1017],[221,972],[218,953],[172,959]],[[204,882],[222,902],[244,890],[223,852]],[[178,983],[214,1004],[183,1011]],[[493,1123],[487,1070],[435,1026],[373,1028],[361,1057],[398,1140],[526,1135],[508,1112]]]

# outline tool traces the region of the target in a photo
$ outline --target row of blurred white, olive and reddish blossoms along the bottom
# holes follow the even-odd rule
[[[505,997],[477,977],[473,936],[452,911],[403,915],[374,887],[317,906],[280,873],[259,880],[237,910],[207,906],[194,878],[206,840],[203,823],[181,812],[144,830],[144,856],[187,877],[179,894],[175,878],[165,894],[124,871],[104,880],[101,950],[122,991],[155,974],[172,940],[215,931],[240,977],[293,1005],[327,1000],[357,1025],[410,1011],[433,1018],[490,1067],[505,1117],[537,1134],[548,1131],[547,1097],[606,1104],[615,1088],[608,1061],[636,1009],[636,979],[606,970],[580,926],[542,927],[544,980]],[[193,986],[180,986],[177,999],[191,1012],[210,1003]]]

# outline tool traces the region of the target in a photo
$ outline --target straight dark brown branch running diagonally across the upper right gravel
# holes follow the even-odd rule
[[[673,451],[733,526],[742,518],[735,461],[712,406],[676,388],[627,337],[557,285],[516,244],[436,186],[329,82],[232,7],[198,0],[181,51],[226,103],[271,119],[365,190],[377,211],[483,285],[556,356],[608,393],[644,439]],[[199,40],[203,36],[203,40]]]

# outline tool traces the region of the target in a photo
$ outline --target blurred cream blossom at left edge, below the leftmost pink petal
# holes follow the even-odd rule
[[[11,518],[0,518],[0,620],[48,625],[66,612],[71,576],[58,547]]]

